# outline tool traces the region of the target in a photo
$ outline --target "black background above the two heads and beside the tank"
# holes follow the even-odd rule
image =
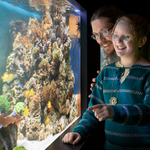
[[[88,51],[88,94],[92,78],[97,76],[96,71],[100,68],[100,47],[91,38],[92,29],[90,19],[94,11],[104,5],[115,5],[127,14],[139,14],[150,21],[149,0],[76,0],[87,11],[87,51]],[[89,99],[88,99],[89,100]]]

